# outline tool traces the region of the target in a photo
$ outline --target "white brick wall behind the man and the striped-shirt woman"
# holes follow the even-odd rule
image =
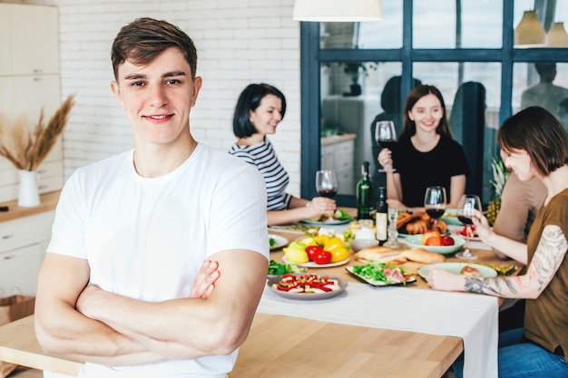
[[[140,16],[177,24],[198,49],[203,87],[191,112],[198,141],[228,150],[235,141],[232,111],[250,82],[269,82],[286,95],[286,118],[270,138],[299,195],[299,23],[294,0],[27,0],[57,5],[63,99],[76,93],[64,132],[64,171],[132,147],[130,126],[115,102],[110,49],[122,25]]]

